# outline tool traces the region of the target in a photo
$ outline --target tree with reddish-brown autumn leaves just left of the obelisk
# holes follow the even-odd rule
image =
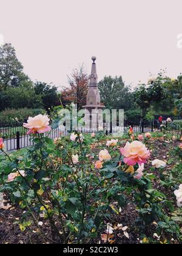
[[[89,77],[84,66],[73,69],[73,73],[68,76],[69,87],[63,87],[61,99],[64,105],[75,103],[80,110],[86,105],[87,92],[89,89]]]

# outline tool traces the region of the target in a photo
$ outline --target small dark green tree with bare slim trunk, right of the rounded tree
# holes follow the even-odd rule
[[[154,102],[160,102],[166,97],[166,90],[163,86],[163,78],[157,77],[151,80],[148,85],[141,84],[133,92],[133,101],[141,108],[140,124],[146,116],[147,110]]]

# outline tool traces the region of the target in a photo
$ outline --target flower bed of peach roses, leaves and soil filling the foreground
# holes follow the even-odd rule
[[[8,155],[0,140],[0,243],[181,242],[180,141],[132,129],[50,140],[44,116],[24,126],[29,149]]]

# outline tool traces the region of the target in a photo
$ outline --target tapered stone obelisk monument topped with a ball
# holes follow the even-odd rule
[[[101,109],[104,105],[101,105],[101,98],[98,90],[98,76],[96,73],[96,57],[92,57],[92,69],[90,74],[90,85],[87,93],[87,105],[84,106],[86,109],[85,123],[86,127],[98,130],[99,126],[102,126]]]

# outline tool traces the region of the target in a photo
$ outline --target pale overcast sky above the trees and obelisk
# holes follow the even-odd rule
[[[145,82],[182,71],[181,0],[0,0],[0,42],[12,43],[32,80],[67,84],[81,63],[98,78]]]

